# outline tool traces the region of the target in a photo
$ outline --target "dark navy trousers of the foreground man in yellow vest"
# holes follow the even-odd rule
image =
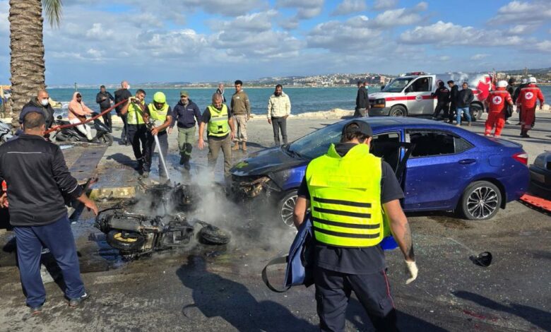
[[[355,275],[316,267],[314,282],[321,331],[345,331],[346,306],[352,291],[377,331],[398,331],[385,271]]]

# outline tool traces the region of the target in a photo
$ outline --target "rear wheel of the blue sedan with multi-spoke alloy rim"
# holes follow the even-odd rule
[[[488,220],[496,215],[502,205],[502,194],[499,188],[487,181],[469,184],[461,201],[459,212],[468,220]]]

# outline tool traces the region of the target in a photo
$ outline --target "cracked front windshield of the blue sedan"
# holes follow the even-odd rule
[[[299,138],[287,146],[286,150],[291,155],[299,158],[313,159],[327,152],[331,143],[340,141],[340,133],[344,124],[333,124],[324,129],[314,131],[312,134]]]

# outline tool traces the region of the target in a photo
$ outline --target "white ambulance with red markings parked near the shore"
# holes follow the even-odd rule
[[[492,79],[487,73],[445,73],[429,74],[422,71],[406,73],[393,78],[380,92],[369,93],[369,117],[391,116],[430,116],[437,104],[432,93],[437,90],[439,81],[454,81],[461,90],[463,82],[467,82],[473,90],[475,99],[470,104],[470,114],[473,119],[480,119],[484,112],[484,100],[492,88]]]

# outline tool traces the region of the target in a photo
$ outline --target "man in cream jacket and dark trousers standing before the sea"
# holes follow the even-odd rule
[[[291,114],[291,101],[289,96],[283,93],[283,85],[275,85],[275,92],[268,99],[268,124],[273,127],[273,142],[280,145],[279,130],[283,144],[287,144],[287,118]]]

